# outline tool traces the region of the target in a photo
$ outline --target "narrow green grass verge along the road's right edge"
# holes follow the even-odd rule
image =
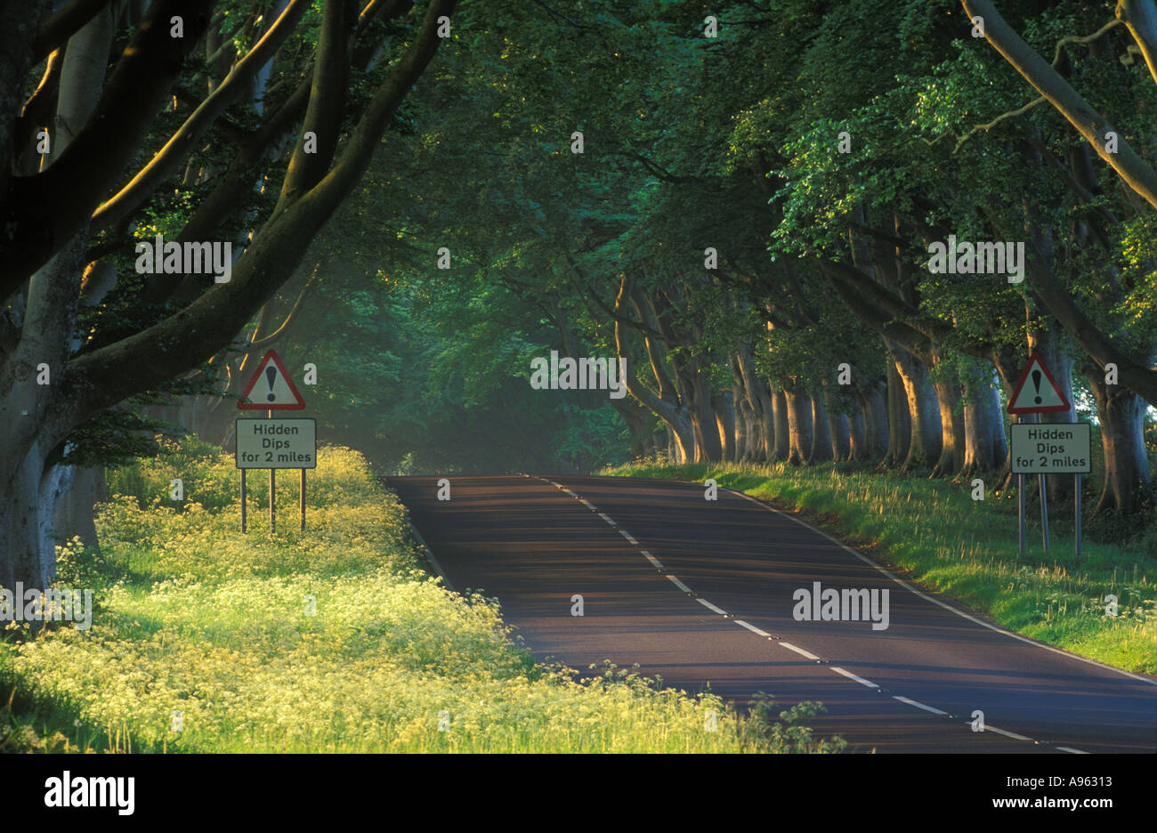
[[[640,462],[604,472],[665,478],[744,492],[798,510],[830,533],[899,569],[905,577],[989,615],[1000,625],[1128,671],[1157,673],[1157,529],[1127,545],[1086,543],[1079,561],[1063,522],[1046,554],[1040,526],[1017,552],[1017,496],[944,480],[876,473],[843,464],[668,465]],[[1039,517],[1029,510],[1032,518]],[[1118,597],[1118,615],[1105,597]]]

